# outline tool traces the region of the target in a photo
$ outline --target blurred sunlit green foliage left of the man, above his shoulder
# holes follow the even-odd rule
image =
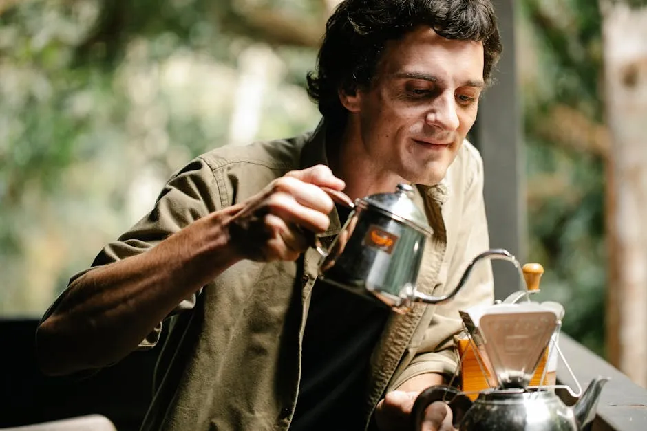
[[[281,3],[266,7],[310,12]],[[242,22],[233,4],[4,5],[0,316],[41,315],[195,155],[317,124],[301,86],[315,49],[222,30]]]

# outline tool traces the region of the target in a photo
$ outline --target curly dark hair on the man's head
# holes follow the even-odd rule
[[[491,0],[345,0],[326,23],[317,71],[308,73],[308,95],[327,122],[343,126],[347,111],[339,89],[368,88],[387,41],[418,25],[444,38],[482,41],[483,79],[502,51]]]

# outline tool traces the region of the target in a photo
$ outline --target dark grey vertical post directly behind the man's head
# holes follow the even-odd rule
[[[513,0],[494,0],[503,55],[494,71],[496,84],[487,89],[469,139],[483,157],[485,210],[491,247],[505,248],[522,263],[527,235],[525,159],[521,140],[521,109],[517,91]],[[520,289],[523,280],[508,263],[493,262],[496,298]]]

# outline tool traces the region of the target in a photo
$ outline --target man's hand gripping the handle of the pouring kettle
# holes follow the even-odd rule
[[[328,166],[295,170],[239,204],[229,221],[230,241],[253,261],[294,261],[308,248],[304,230],[326,232],[334,203],[321,186],[343,190]]]

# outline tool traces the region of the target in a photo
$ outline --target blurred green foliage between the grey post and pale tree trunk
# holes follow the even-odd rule
[[[530,258],[542,298],[566,306],[564,331],[604,354],[604,104],[597,1],[524,0],[520,53],[529,178]],[[529,49],[522,43],[522,49]]]

